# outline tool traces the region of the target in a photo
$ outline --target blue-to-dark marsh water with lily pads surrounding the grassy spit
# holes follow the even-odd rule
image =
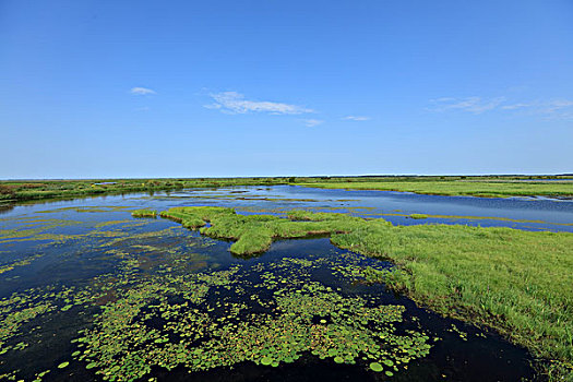
[[[525,349],[365,282],[387,262],[320,237],[236,258],[230,242],[131,216],[192,205],[533,230],[573,223],[569,201],[288,186],[16,205],[0,214],[0,380],[535,379]]]

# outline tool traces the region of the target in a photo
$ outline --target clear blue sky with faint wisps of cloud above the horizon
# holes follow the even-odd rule
[[[573,172],[573,2],[0,1],[0,178]]]

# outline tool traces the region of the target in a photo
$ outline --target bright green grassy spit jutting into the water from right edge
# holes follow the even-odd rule
[[[573,379],[573,235],[451,225],[392,226],[344,214],[293,211],[288,218],[231,208],[178,207],[162,216],[264,251],[274,239],[331,235],[332,242],[389,259],[390,286],[444,315],[496,329],[542,358],[551,380]]]

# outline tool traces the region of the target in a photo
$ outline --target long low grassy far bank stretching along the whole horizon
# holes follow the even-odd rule
[[[187,188],[299,184],[306,187],[409,191],[440,195],[573,198],[573,181],[563,176],[484,177],[277,177],[189,179],[98,179],[0,181],[0,203],[69,199]]]

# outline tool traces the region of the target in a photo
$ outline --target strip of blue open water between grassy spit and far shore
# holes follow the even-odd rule
[[[192,190],[133,196],[147,203],[178,205],[219,205],[242,207],[244,212],[282,212],[306,208],[383,217],[397,225],[464,224],[482,227],[511,227],[525,230],[573,232],[573,201],[542,198],[475,198],[423,195],[394,191],[346,191],[298,186],[240,187],[220,190]],[[174,200],[177,199],[177,200]],[[426,214],[413,219],[410,214]]]

